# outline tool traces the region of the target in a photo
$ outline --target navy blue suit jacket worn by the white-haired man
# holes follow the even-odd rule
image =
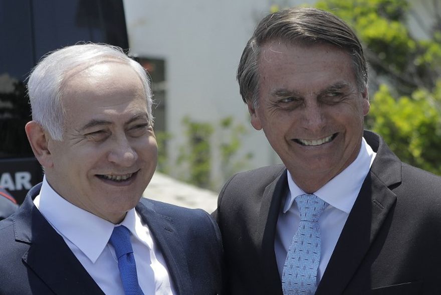
[[[0,294],[103,294],[34,206],[40,187],[0,222]],[[145,198],[136,210],[161,249],[178,294],[221,293],[222,242],[209,214]]]

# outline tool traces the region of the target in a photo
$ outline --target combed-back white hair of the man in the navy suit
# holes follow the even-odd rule
[[[137,73],[144,89],[148,120],[153,124],[150,79],[145,69],[124,51],[107,44],[77,44],[47,54],[33,69],[28,81],[32,119],[49,132],[54,140],[63,139],[66,110],[63,106],[63,83],[69,71],[88,67],[94,62],[116,60]]]

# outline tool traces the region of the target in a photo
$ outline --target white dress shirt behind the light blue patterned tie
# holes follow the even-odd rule
[[[370,166],[376,153],[362,138],[360,152],[357,158],[340,174],[331,179],[328,183],[314,192],[316,196],[327,202],[319,219],[321,234],[321,256],[317,280],[320,281],[331,254],[334,251],[337,240],[343,229],[349,212],[355,203],[360,192],[361,185],[369,172]],[[297,203],[294,201],[299,195],[305,192],[293,181],[288,171],[289,192],[286,197],[282,213],[279,215],[275,237],[275,252],[279,274],[282,276],[283,265],[291,245],[291,240],[296,233],[300,223],[300,213]]]

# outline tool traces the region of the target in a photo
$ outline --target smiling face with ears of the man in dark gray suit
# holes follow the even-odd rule
[[[349,54],[331,45],[268,43],[259,75],[259,106],[248,103],[251,123],[312,193],[357,157],[367,90],[358,89]]]

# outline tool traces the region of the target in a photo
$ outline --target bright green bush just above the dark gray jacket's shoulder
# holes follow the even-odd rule
[[[372,100],[369,121],[400,159],[441,174],[441,80],[433,93],[415,90],[397,100],[381,85]]]

